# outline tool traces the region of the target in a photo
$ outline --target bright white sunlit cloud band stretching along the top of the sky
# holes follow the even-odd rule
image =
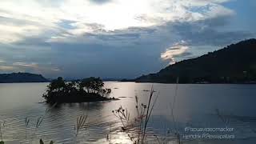
[[[105,3],[94,5],[91,2]],[[159,26],[165,22],[194,22],[233,11],[217,0],[24,0],[0,2],[0,42],[17,42],[45,34],[46,41],[98,31],[124,30],[129,27]],[[194,10],[206,7],[203,10]],[[33,13],[31,13],[33,11]],[[0,22],[1,23],[1,22]],[[95,27],[96,26],[96,27]],[[49,32],[51,31],[51,32]]]

